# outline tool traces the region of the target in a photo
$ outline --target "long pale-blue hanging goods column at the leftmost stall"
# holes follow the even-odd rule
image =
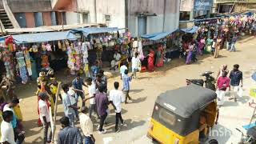
[[[28,77],[26,74],[26,62],[24,60],[23,52],[22,51],[16,52],[16,58],[17,58],[17,62],[18,62],[20,78],[22,78],[22,83],[26,84],[26,82],[28,81]]]

